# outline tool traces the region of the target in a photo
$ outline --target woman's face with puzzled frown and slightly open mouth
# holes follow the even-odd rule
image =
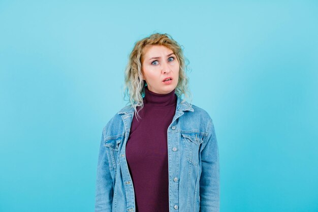
[[[157,94],[168,94],[176,88],[179,62],[173,51],[162,45],[145,46],[142,51],[142,78],[148,89]],[[166,78],[171,80],[164,81]]]

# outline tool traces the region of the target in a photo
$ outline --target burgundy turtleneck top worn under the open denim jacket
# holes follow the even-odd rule
[[[177,106],[175,89],[156,94],[145,87],[144,107],[134,115],[126,144],[137,212],[169,212],[167,131]],[[139,109],[139,108],[137,108]]]

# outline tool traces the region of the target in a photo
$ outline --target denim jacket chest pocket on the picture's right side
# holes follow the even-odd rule
[[[185,145],[186,160],[197,166],[199,163],[199,148],[203,142],[202,136],[197,132],[181,133],[182,143]]]

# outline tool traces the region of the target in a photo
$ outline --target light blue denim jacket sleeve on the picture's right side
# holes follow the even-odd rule
[[[200,212],[219,212],[219,154],[212,119],[201,152]]]

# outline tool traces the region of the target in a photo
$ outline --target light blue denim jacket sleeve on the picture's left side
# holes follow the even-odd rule
[[[106,128],[106,127],[105,127]],[[106,152],[106,146],[104,146],[104,133],[103,129],[98,165],[97,165],[97,180],[96,180],[96,212],[111,212],[113,201],[113,181],[110,175],[109,162]]]

